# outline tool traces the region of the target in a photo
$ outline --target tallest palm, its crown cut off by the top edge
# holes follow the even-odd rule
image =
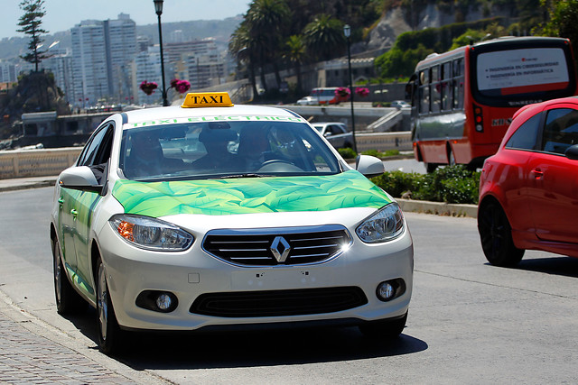
[[[291,11],[285,0],[254,0],[247,12],[245,20],[249,26],[249,34],[259,52],[261,81],[265,89],[267,63],[272,64],[275,69],[277,87],[281,83],[281,76],[277,68],[277,60],[279,59],[277,52],[290,16]]]

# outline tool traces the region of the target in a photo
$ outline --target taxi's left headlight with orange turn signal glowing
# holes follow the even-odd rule
[[[194,240],[182,228],[149,216],[117,214],[108,222],[126,242],[147,250],[179,252]]]

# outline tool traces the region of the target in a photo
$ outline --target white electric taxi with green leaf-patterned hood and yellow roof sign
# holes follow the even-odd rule
[[[127,330],[322,321],[399,335],[413,243],[392,197],[301,116],[227,93],[112,115],[55,188],[60,314]]]

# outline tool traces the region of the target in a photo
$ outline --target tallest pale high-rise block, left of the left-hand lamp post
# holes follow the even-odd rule
[[[127,14],[117,20],[82,21],[72,28],[71,39],[75,105],[122,102],[131,94],[136,25]]]

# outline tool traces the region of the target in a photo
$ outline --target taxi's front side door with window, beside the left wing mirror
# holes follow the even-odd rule
[[[114,133],[113,124],[105,124],[97,129],[92,137],[86,156],[79,162],[79,166],[88,166],[95,173],[99,184],[106,182],[107,162],[110,158],[110,149]],[[90,227],[92,215],[101,201],[102,196],[96,192],[74,190],[74,250],[76,252],[76,273],[79,289],[93,294],[90,284]]]

